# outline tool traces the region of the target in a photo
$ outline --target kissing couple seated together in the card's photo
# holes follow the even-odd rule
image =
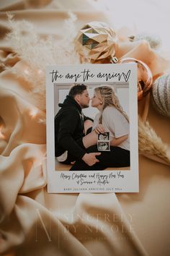
[[[83,109],[97,108],[94,119]],[[89,96],[85,84],[74,84],[55,115],[55,163],[69,171],[94,171],[130,166],[130,124],[113,86],[99,85]],[[97,147],[109,135],[109,150]],[[101,143],[101,142],[100,142]],[[57,169],[57,171],[59,171]]]

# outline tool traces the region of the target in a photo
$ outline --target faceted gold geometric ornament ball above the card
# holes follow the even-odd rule
[[[79,31],[75,45],[83,61],[108,63],[115,56],[117,35],[104,22],[90,22]]]

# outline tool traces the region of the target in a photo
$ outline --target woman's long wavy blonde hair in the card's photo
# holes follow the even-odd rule
[[[107,106],[114,106],[120,113],[125,116],[125,119],[129,122],[128,115],[125,113],[125,111],[122,109],[122,106],[120,105],[120,101],[117,98],[117,95],[115,95],[115,91],[111,86],[108,85],[102,85],[97,88],[94,88],[94,92],[101,96],[103,103],[102,112],[104,111],[104,108]],[[99,118],[99,123],[102,124],[102,114]]]

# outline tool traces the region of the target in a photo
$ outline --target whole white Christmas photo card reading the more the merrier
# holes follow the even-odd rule
[[[138,192],[137,67],[48,66],[48,192]]]

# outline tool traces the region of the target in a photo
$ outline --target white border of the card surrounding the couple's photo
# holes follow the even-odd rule
[[[76,174],[92,174],[99,173],[109,175],[116,174],[118,171],[55,171],[55,143],[54,143],[54,82],[51,81],[50,72],[58,70],[61,74],[66,74],[72,72],[80,72],[83,69],[90,68],[92,73],[97,74],[99,70],[102,72],[125,72],[127,73],[130,70],[129,77],[129,108],[130,108],[130,171],[120,171],[120,174],[124,175],[124,178],[112,179],[112,186],[103,187],[98,186],[99,189],[95,189],[94,186],[89,186],[89,189],[86,189],[87,185],[80,186],[76,184],[73,180],[61,180],[61,173],[74,175]],[[107,84],[106,80],[97,78],[89,78],[86,82],[104,82]],[[55,81],[57,83],[58,81]],[[60,80],[58,84],[67,84],[75,83],[74,80]],[[85,83],[80,78],[76,82]],[[110,82],[117,82],[117,77],[112,78]],[[125,82],[123,77],[121,77],[120,82]],[[139,192],[139,180],[138,180],[138,91],[137,91],[137,65],[135,63],[128,64],[80,64],[80,65],[55,65],[47,66],[46,68],[46,124],[47,124],[47,173],[48,173],[48,192],[49,193],[77,193],[77,192]],[[133,136],[132,136],[133,135]],[[118,168],[117,168],[118,170]],[[71,182],[73,185],[71,186]],[[68,186],[69,183],[69,186]],[[71,189],[69,189],[71,187]],[[94,188],[94,189],[93,189]]]

